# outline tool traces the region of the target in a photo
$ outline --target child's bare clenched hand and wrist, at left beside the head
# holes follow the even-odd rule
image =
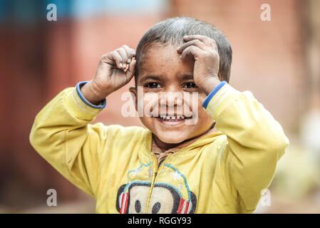
[[[81,88],[84,97],[98,104],[110,93],[125,86],[135,73],[135,50],[126,45],[100,58],[96,76]]]

